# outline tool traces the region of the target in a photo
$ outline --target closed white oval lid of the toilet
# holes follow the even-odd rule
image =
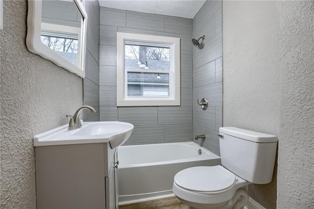
[[[199,166],[184,169],[176,174],[175,183],[188,190],[214,192],[229,188],[235,183],[235,175],[216,166]]]

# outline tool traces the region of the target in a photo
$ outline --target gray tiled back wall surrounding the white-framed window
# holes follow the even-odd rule
[[[117,31],[181,38],[181,106],[116,107]],[[126,144],[192,140],[191,39],[191,19],[101,7],[100,120],[132,123],[134,131]]]

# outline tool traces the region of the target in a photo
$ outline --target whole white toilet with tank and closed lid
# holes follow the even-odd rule
[[[174,178],[173,193],[189,209],[242,209],[248,202],[248,184],[271,182],[277,136],[235,127],[222,127],[219,134],[225,168],[191,167]]]

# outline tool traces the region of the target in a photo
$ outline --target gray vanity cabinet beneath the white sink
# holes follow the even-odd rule
[[[109,143],[35,147],[37,209],[117,209],[117,149]]]

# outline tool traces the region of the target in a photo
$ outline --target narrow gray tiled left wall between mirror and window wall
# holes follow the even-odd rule
[[[87,13],[85,78],[83,78],[83,104],[96,109],[96,113],[84,110],[84,121],[99,121],[99,45],[100,6],[98,0],[84,0]]]

